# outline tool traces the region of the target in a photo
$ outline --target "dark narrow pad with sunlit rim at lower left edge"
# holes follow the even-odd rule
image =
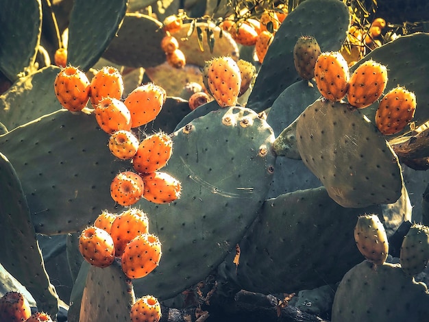
[[[25,193],[9,160],[0,153],[0,252],[3,267],[36,299],[39,310],[55,316],[58,295],[49,282],[36,240]]]

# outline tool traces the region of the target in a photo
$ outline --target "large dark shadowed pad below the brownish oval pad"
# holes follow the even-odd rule
[[[239,242],[240,264],[229,257],[223,274],[245,290],[266,294],[335,283],[362,259],[353,229],[356,216],[371,211],[380,208],[339,206],[324,187],[268,199]]]

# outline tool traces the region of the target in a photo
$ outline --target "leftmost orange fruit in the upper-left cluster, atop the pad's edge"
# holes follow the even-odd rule
[[[53,83],[55,95],[63,108],[72,112],[82,110],[89,100],[90,83],[85,73],[67,66],[58,73]]]

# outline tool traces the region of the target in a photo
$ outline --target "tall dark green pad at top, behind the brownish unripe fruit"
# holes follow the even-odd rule
[[[342,1],[306,0],[300,3],[275,33],[247,107],[256,112],[271,107],[285,88],[300,79],[293,62],[293,47],[300,36],[315,37],[322,51],[336,51],[343,45],[349,25],[350,14]]]

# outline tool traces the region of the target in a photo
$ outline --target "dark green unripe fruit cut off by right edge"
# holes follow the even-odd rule
[[[408,275],[421,273],[429,260],[429,227],[415,223],[410,227],[400,251],[402,270]]]

